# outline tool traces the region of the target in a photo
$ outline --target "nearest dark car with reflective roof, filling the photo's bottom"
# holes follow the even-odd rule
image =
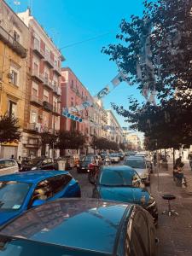
[[[91,199],[46,203],[0,230],[1,256],[156,256],[156,242],[142,207]]]

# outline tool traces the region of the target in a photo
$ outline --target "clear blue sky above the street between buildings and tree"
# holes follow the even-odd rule
[[[101,49],[118,42],[115,35],[119,32],[120,20],[129,20],[132,14],[140,15],[143,0],[20,0],[18,6],[13,0],[7,0],[18,12],[26,10],[30,2],[32,15],[44,26],[58,48],[62,48],[62,54],[67,59],[63,67],[71,67],[90,93],[96,95],[117,74],[115,63],[109,61],[108,55],[103,55]],[[65,47],[100,35],[84,44]],[[116,102],[126,108],[129,95],[143,101],[136,87],[122,83],[104,98],[104,107],[111,108],[110,102]],[[124,119],[116,116],[119,123],[125,126]]]

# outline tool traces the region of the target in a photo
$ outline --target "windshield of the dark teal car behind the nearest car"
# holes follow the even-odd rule
[[[134,172],[127,170],[102,170],[99,184],[103,186],[132,186]]]

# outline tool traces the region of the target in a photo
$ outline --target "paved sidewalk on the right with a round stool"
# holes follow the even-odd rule
[[[185,172],[192,177],[192,172]],[[159,208],[159,256],[192,256],[192,195],[188,195],[185,189],[177,187],[173,182],[172,166],[168,171],[159,169],[159,175],[158,169],[155,168],[151,184],[151,193]],[[168,207],[167,201],[162,199],[164,194],[176,195],[176,200],[172,201],[171,205],[172,209],[178,212],[178,216],[168,217],[161,214]]]

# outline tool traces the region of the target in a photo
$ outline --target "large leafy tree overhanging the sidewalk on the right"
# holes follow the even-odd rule
[[[154,91],[158,98],[157,105],[153,94],[147,104],[129,98],[128,109],[113,103],[132,129],[145,133],[149,148],[192,143],[191,7],[188,0],[145,1],[141,17],[122,20],[121,44],[102,49],[143,96]]]

